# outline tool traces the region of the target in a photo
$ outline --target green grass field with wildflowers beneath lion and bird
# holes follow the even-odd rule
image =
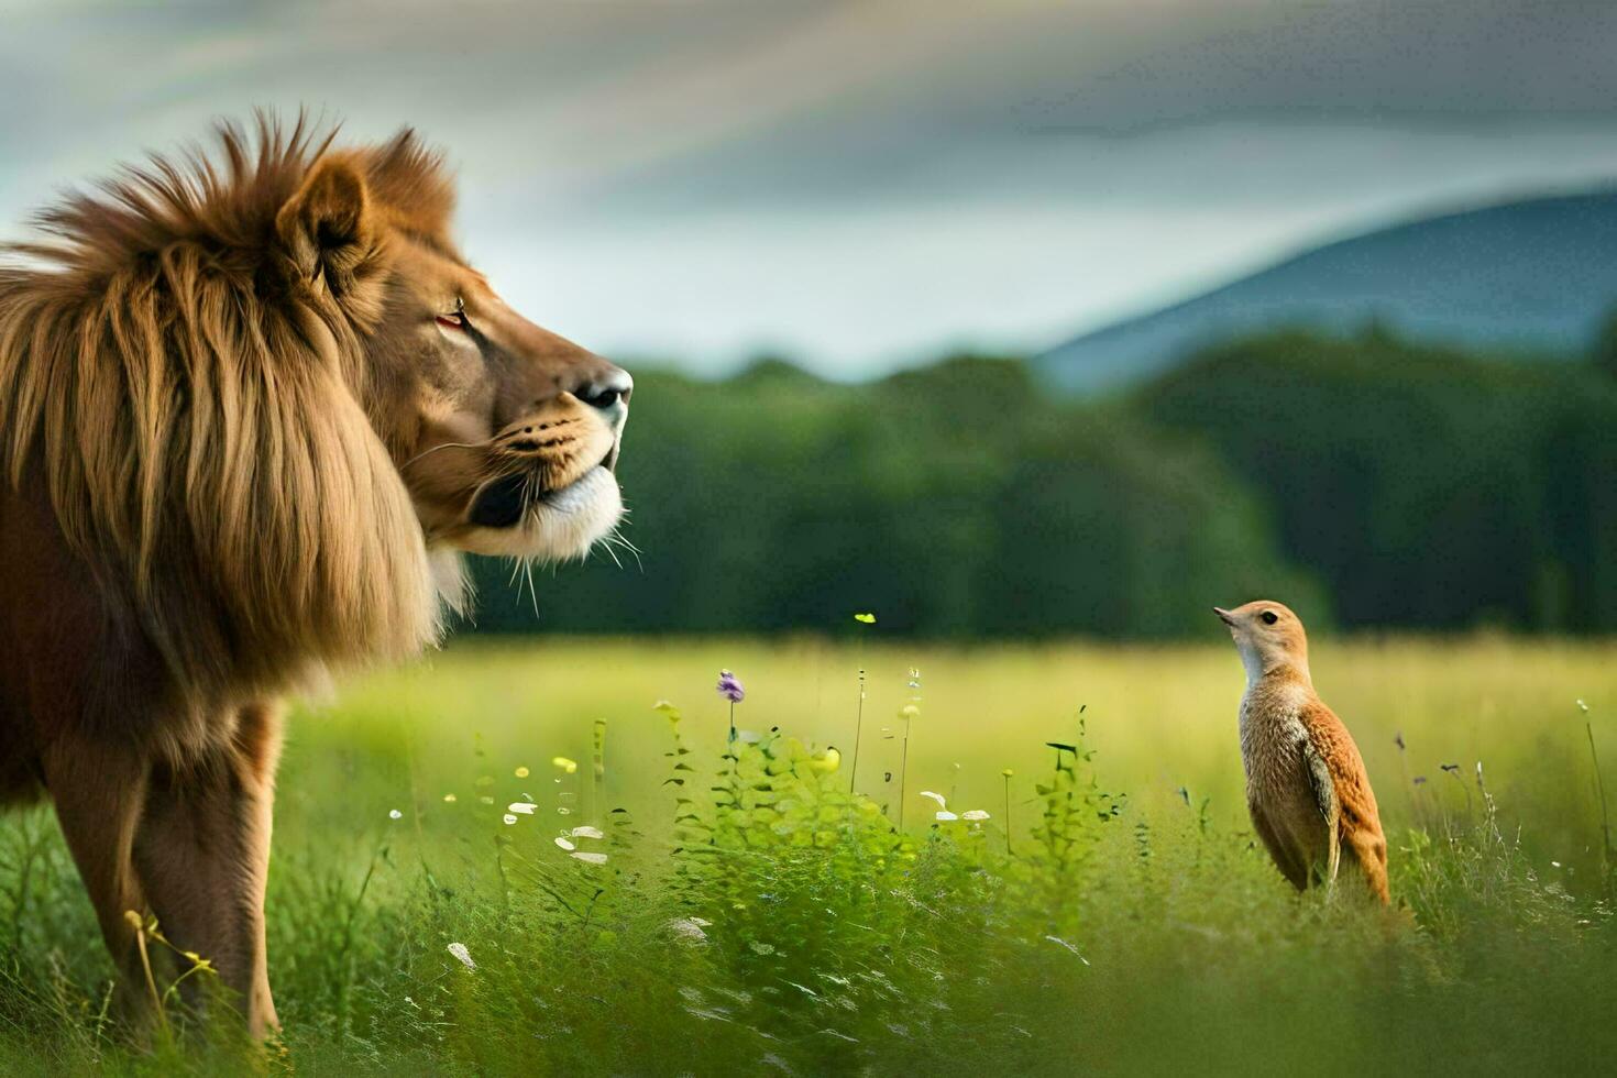
[[[298,710],[283,761],[268,1065],[1609,1068],[1617,923],[1585,724],[1617,785],[1617,646],[1316,643],[1379,795],[1384,915],[1347,887],[1295,897],[1253,849],[1243,676],[1208,637],[462,642],[348,679]],[[758,734],[734,755],[720,667]],[[922,790],[988,819],[938,823]],[[8,1073],[262,1065],[178,1004],[171,1042],[129,1049],[108,976],[55,824],[6,818]]]

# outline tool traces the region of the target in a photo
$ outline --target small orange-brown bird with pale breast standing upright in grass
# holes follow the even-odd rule
[[[1297,891],[1331,887],[1345,861],[1386,905],[1387,840],[1376,795],[1352,734],[1315,692],[1302,621],[1268,600],[1213,613],[1247,667],[1240,758],[1258,837]]]

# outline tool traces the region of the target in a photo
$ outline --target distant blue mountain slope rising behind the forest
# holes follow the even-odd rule
[[[1035,360],[1077,393],[1125,386],[1216,341],[1307,326],[1580,356],[1617,304],[1617,191],[1431,217],[1316,247],[1222,288],[1087,333]]]

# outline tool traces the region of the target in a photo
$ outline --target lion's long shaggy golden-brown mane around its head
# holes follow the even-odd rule
[[[65,197],[0,267],[0,482],[188,693],[407,655],[440,619],[362,336],[388,229],[440,234],[450,181],[409,133],[340,152],[260,115],[217,142]],[[298,238],[278,215],[336,154],[375,212]]]

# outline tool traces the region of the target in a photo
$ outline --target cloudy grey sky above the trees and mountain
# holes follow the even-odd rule
[[[1617,179],[1577,0],[0,0],[0,236],[254,107],[417,128],[603,354],[1038,352],[1316,242]]]

